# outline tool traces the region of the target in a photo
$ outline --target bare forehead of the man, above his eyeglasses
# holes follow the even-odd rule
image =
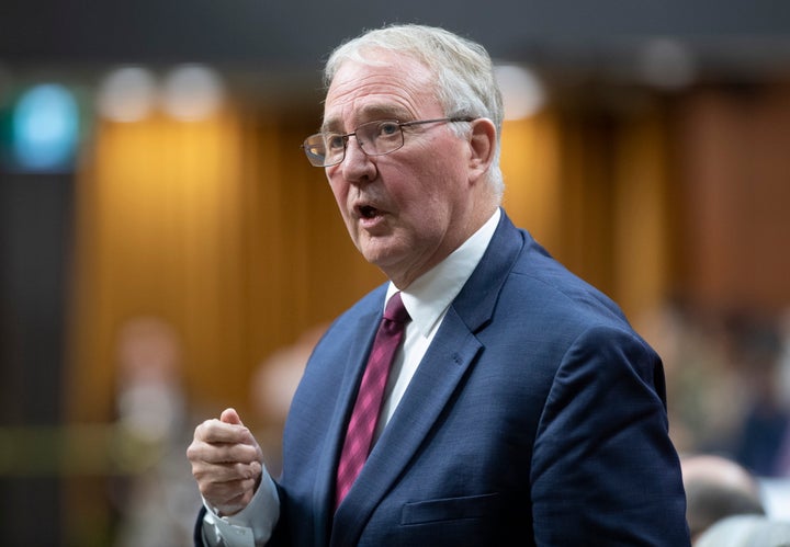
[[[430,70],[413,57],[369,54],[372,64],[347,60],[329,86],[324,128],[346,130],[382,117],[416,119],[443,115]]]

